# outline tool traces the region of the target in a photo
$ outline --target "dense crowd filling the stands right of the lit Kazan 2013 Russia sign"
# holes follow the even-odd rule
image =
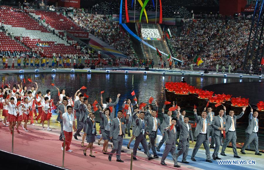
[[[215,68],[219,64],[241,69],[250,25],[250,20],[188,19],[179,36],[170,28],[173,38],[169,47],[184,66],[192,64],[198,55],[203,61],[199,67]]]

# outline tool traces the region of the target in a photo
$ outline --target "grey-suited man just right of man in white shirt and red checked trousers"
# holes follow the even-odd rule
[[[76,139],[76,140],[78,140],[77,135],[82,131],[82,129],[84,127],[84,124],[86,122],[86,119],[87,119],[87,117],[89,115],[88,110],[87,110],[87,104],[88,104],[88,99],[87,98],[83,98],[83,102],[80,105],[81,109],[80,109],[79,127],[76,130],[75,134],[73,135],[74,139]]]

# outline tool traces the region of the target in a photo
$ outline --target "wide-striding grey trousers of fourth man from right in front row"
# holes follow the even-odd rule
[[[194,158],[195,155],[197,154],[197,151],[198,149],[200,148],[201,145],[204,145],[204,149],[205,149],[205,154],[206,154],[206,160],[210,160],[210,148],[209,148],[209,144],[208,144],[208,139],[207,139],[207,135],[202,135],[202,134],[199,134],[197,136],[197,139],[196,139],[196,144],[194,146],[194,149],[192,151],[192,157],[191,158]]]

